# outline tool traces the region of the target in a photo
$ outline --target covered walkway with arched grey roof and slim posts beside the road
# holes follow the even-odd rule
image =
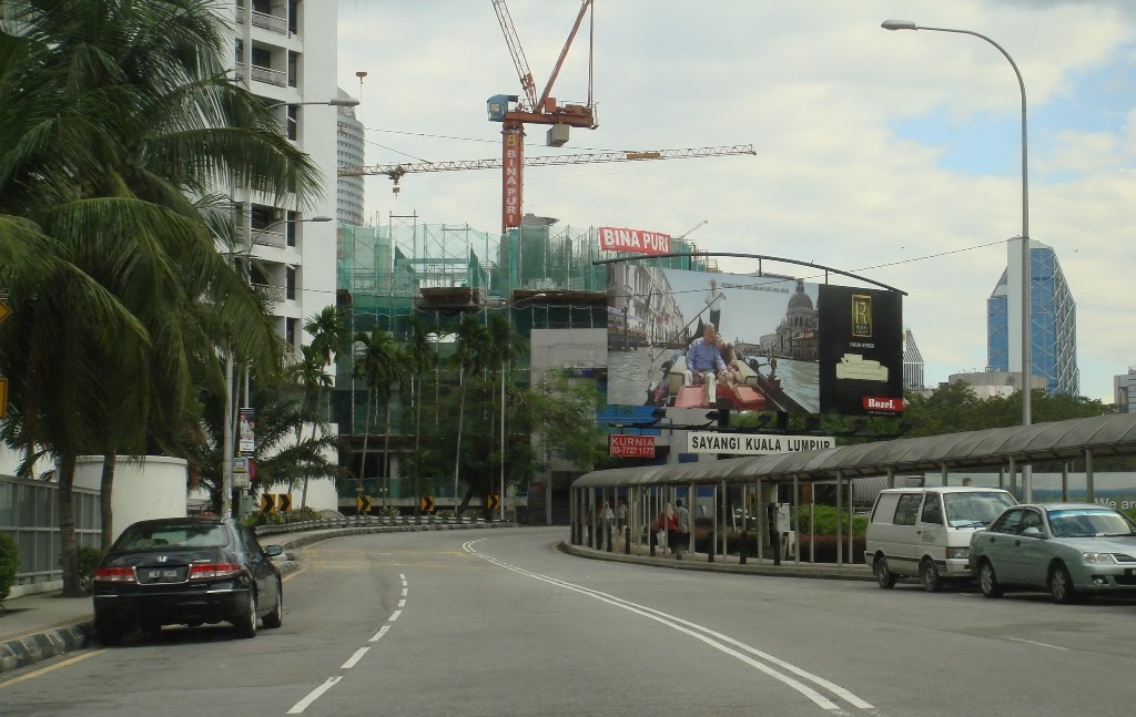
[[[660,427],[663,428],[663,427]],[[801,532],[801,511],[793,516],[793,528],[767,512],[776,506],[776,491],[771,495],[775,483],[793,483],[793,504],[800,503],[800,484],[815,481],[836,481],[837,484],[851,482],[852,479],[887,476],[887,483],[894,483],[897,474],[925,473],[942,471],[943,484],[946,484],[947,473],[954,471],[974,471],[976,469],[997,469],[999,484],[1002,484],[1002,471],[1008,469],[1010,490],[1014,490],[1017,466],[1038,462],[1064,463],[1062,474],[1068,471],[1068,464],[1074,461],[1084,462],[1086,500],[1093,500],[1093,457],[1136,455],[1136,414],[1112,414],[1092,419],[1074,419],[1054,423],[1037,423],[1028,427],[999,428],[963,433],[947,433],[926,438],[901,438],[896,440],[842,446],[821,450],[801,453],[779,453],[743,458],[720,461],[700,461],[698,463],[673,463],[668,465],[650,465],[632,469],[612,469],[585,473],[573,482],[573,542],[582,545],[585,529],[587,543],[593,541],[593,532],[602,543],[600,512],[593,513],[592,506],[602,507],[607,500],[616,500],[620,494],[626,494],[629,501],[627,549],[632,542],[638,543],[644,535],[650,538],[652,555],[654,555],[655,516],[668,511],[671,501],[691,498],[687,505],[693,507],[699,487],[705,487],[712,492],[715,546],[710,548],[710,560],[719,554],[727,554],[726,532],[735,516],[727,514],[727,491],[733,487],[741,492],[741,505],[751,503],[747,491],[755,484],[757,501],[766,506],[758,509],[758,559],[765,555],[766,534],[769,546],[779,558],[783,545],[792,545],[794,560],[800,562],[797,537]],[[1063,481],[1062,481],[1063,483]],[[1033,499],[1031,486],[1024,481],[1026,501]],[[845,491],[836,491],[837,513],[843,511],[842,503]],[[851,496],[851,494],[849,494]],[[719,500],[719,498],[721,498]],[[705,507],[704,505],[699,506]],[[743,525],[749,525],[749,513],[743,513]],[[811,518],[810,518],[811,520]],[[776,521],[776,523],[775,523]],[[593,531],[593,522],[594,528]],[[775,528],[776,525],[776,528]],[[847,550],[844,550],[844,521],[836,524],[836,564],[843,565],[845,556],[852,557],[853,535],[849,531]],[[768,531],[766,529],[769,529]],[[721,530],[719,530],[721,529]],[[609,531],[610,532],[610,531]],[[810,535],[810,557],[812,560],[812,529]],[[780,537],[787,541],[782,543]],[[608,549],[612,548],[611,535],[608,537]],[[660,535],[659,541],[663,538]],[[684,549],[694,550],[695,534],[691,531],[688,545]],[[745,562],[743,549],[742,562]]]

